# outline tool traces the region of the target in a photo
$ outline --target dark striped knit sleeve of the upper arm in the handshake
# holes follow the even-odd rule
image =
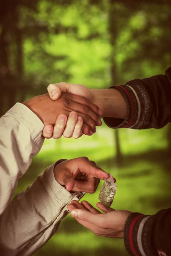
[[[104,117],[110,128],[162,128],[171,122],[171,67],[165,75],[134,79],[113,86],[122,93],[128,106],[126,119]]]

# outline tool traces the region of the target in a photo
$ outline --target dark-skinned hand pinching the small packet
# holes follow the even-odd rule
[[[100,179],[109,177],[95,162],[87,157],[64,160],[54,168],[55,180],[70,192],[94,193]]]

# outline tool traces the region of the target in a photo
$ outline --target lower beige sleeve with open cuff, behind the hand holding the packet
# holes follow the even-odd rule
[[[20,192],[0,216],[2,255],[29,256],[56,232],[67,213],[67,204],[83,193],[68,192],[54,177],[54,165]]]

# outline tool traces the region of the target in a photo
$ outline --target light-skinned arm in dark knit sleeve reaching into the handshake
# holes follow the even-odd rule
[[[58,91],[53,97],[52,91]],[[162,128],[171,121],[171,67],[165,75],[134,79],[110,89],[88,89],[82,84],[50,84],[49,96],[55,100],[61,91],[87,97],[99,106],[110,128]]]

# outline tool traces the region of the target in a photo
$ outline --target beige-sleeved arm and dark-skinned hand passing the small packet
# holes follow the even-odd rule
[[[67,215],[67,204],[79,200],[83,192],[95,192],[99,178],[108,176],[87,157],[59,160],[47,168],[0,216],[3,255],[32,255],[56,232]]]

